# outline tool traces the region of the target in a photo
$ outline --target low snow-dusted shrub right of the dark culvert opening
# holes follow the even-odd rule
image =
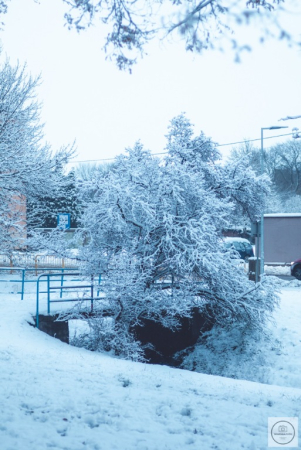
[[[269,384],[273,367],[267,361],[281,347],[270,330],[262,332],[238,323],[213,327],[177,357],[186,370]]]

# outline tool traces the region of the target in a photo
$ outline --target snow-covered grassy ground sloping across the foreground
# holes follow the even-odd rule
[[[268,418],[300,414],[300,285],[283,287],[271,325],[272,385],[68,346],[28,325],[34,295],[1,294],[0,449],[266,449]]]

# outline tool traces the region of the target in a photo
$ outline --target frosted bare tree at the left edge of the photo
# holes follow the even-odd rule
[[[0,242],[2,252],[25,246],[31,221],[27,201],[49,195],[61,183],[57,164],[70,158],[72,148],[52,154],[43,142],[40,106],[36,101],[39,78],[26,67],[0,67]],[[36,213],[37,211],[35,211]]]

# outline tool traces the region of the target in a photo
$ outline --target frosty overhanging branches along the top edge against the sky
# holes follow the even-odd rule
[[[139,57],[146,54],[152,39],[164,40],[176,33],[186,50],[201,52],[224,45],[228,39],[236,56],[246,48],[236,41],[233,29],[237,24],[256,23],[261,40],[267,36],[293,40],[289,31],[278,22],[278,11],[285,0],[63,0],[69,7],[65,15],[70,28],[81,31],[97,18],[106,26],[104,46],[108,57],[120,69],[131,71]],[[248,48],[250,46],[248,45]]]

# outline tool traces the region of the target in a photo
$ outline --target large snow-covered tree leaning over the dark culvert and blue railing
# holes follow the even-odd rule
[[[90,202],[82,217],[82,269],[102,274],[97,320],[110,310],[110,345],[119,352],[143,319],[172,328],[197,308],[217,323],[260,327],[275,302],[268,282],[248,281],[222,242],[235,208],[259,215],[265,178],[219,164],[215,144],[203,133],[194,138],[183,114],[167,139],[164,159],[138,142],[83,192]]]

